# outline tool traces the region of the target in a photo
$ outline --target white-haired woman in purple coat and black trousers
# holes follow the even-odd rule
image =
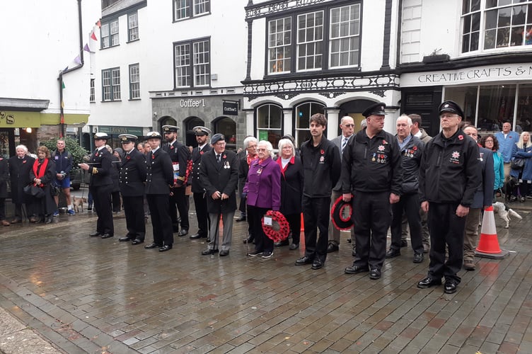
[[[268,210],[279,211],[281,207],[281,168],[272,160],[272,143],[260,141],[257,146],[258,159],[253,160],[248,171],[248,181],[243,193],[247,195],[248,219],[253,219],[255,251],[248,256],[273,256],[273,241],[262,231],[262,217]]]

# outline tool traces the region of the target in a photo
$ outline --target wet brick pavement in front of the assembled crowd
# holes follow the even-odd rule
[[[123,214],[112,239],[88,236],[88,212],[2,227],[0,319],[18,324],[2,321],[0,350],[48,353],[7,346],[33,333],[64,353],[532,353],[532,215],[521,215],[510,229],[496,217],[509,257],[476,258],[453,295],[416,287],[429,262],[412,263],[411,249],[387,259],[380,280],[345,275],[347,232],[311,270],[294,265],[302,247],[246,257],[245,222],[234,223],[226,257],[202,256],[204,239],[189,235],[164,253],[119,242]]]

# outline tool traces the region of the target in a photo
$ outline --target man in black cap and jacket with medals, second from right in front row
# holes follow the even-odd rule
[[[381,278],[391,204],[399,201],[403,178],[397,139],[383,130],[385,109],[376,103],[364,110],[366,127],[349,139],[342,159],[343,200],[352,200],[357,245],[345,273],[369,271],[373,280]]]

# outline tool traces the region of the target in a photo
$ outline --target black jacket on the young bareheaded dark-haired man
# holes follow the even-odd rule
[[[320,144],[313,146],[312,137],[301,144],[303,164],[303,195],[311,198],[330,197],[332,187],[340,178],[340,150],[322,136]]]

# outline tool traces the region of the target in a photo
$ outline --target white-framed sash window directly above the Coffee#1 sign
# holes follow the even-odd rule
[[[210,86],[209,40],[174,43],[174,54],[176,88]]]

